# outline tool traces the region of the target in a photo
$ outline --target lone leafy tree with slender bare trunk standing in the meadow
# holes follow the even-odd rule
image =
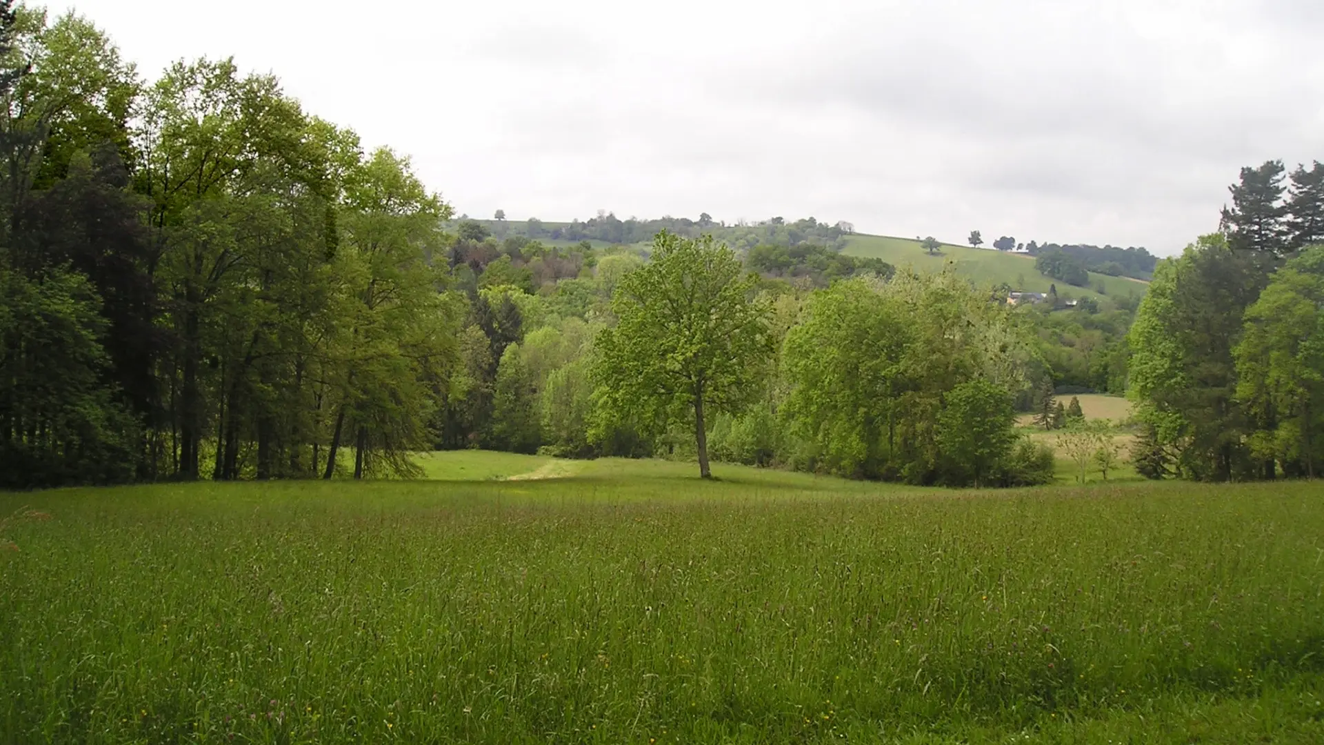
[[[756,280],[712,236],[662,231],[653,260],[621,278],[612,294],[618,321],[596,339],[604,412],[657,424],[692,414],[704,479],[712,476],[704,418],[740,410],[771,358],[771,310],[755,297]]]

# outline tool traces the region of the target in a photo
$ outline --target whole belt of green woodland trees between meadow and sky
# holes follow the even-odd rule
[[[455,217],[271,76],[148,82],[87,20],[0,8],[0,487],[455,448],[1034,484],[1053,453],[1014,418],[1063,391],[1129,392],[1149,476],[1313,475],[1317,163],[1243,170],[1139,309],[1070,296],[1106,257],[1148,274],[1108,247],[1035,245],[1062,292],[1012,304],[845,256],[847,223]]]

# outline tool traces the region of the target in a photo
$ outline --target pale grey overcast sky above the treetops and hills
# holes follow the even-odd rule
[[[1324,159],[1321,0],[83,0],[152,80],[233,56],[458,212],[1145,245]]]

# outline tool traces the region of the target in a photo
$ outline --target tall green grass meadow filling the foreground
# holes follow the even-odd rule
[[[0,742],[1324,741],[1313,484],[561,468],[0,494]]]

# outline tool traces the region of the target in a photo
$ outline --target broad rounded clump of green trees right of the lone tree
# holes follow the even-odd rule
[[[1027,362],[1012,312],[953,273],[903,273],[886,285],[851,280],[818,290],[782,349],[789,392],[781,414],[808,445],[788,460],[853,477],[984,483],[992,461],[957,464],[963,456],[943,456],[947,396],[977,379],[1006,396],[1019,392]],[[969,403],[965,395],[951,400]],[[1006,447],[986,433],[980,430],[977,443],[953,447],[981,459],[1005,456]]]

